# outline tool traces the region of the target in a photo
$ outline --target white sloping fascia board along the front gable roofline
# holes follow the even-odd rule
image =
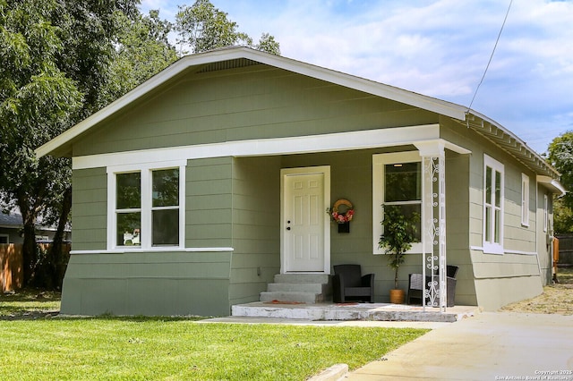
[[[385,97],[397,102],[405,103],[406,105],[420,107],[434,113],[447,115],[459,120],[465,120],[466,118],[466,109],[463,106],[437,98],[423,96],[405,89],[398,89],[379,82],[365,80],[343,72],[335,72],[330,69],[312,65],[310,63],[295,61],[279,55],[269,55],[268,53],[263,53],[247,47],[235,47],[219,49],[198,55],[184,56],[179,61],[167,67],[164,71],[158,72],[158,74],[125,94],[123,97],[118,98],[110,105],[102,108],[97,113],[90,115],[90,117],[74,125],[71,129],[37,148],[35,151],[36,156],[44,157],[48,155],[50,152],[77,138],[82,133],[90,130],[90,128],[97,123],[104,121],[110,115],[120,111],[125,106],[128,106],[133,101],[149,93],[151,90],[156,89],[158,86],[189,67],[238,58],[246,58],[252,61],[268,64],[279,69],[284,69],[289,72],[296,72],[316,78],[318,80],[326,80],[346,88],[360,90],[379,97]]]

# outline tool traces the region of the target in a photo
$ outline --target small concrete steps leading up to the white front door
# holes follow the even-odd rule
[[[261,301],[320,303],[331,294],[329,279],[324,274],[277,274],[275,283],[261,292]]]

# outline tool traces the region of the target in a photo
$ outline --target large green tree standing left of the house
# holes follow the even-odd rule
[[[116,14],[137,13],[137,4],[0,0],[0,194],[21,211],[25,283],[42,259],[38,217],[59,220],[57,247],[71,206],[69,161],[37,160],[34,149],[108,102]]]

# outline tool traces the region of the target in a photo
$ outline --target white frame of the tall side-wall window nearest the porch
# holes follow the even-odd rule
[[[487,184],[487,168],[492,168],[492,202],[491,204],[486,203],[486,184]],[[500,173],[500,207],[495,207],[495,173]],[[504,220],[504,213],[505,213],[505,196],[504,190],[505,188],[505,170],[504,166],[493,157],[489,157],[487,155],[483,155],[483,252],[489,254],[503,254],[503,220]],[[486,209],[488,207],[492,208],[491,214],[491,224],[490,224],[490,237],[492,241],[485,241],[486,238]],[[495,242],[495,211],[498,210],[500,212],[500,221],[499,221],[499,233],[500,233],[500,242]]]

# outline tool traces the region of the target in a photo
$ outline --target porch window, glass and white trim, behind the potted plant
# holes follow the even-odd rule
[[[418,241],[409,252],[422,252],[422,158],[417,151],[372,156],[372,250],[378,247],[383,226],[384,207],[398,207],[405,215],[417,214]]]

